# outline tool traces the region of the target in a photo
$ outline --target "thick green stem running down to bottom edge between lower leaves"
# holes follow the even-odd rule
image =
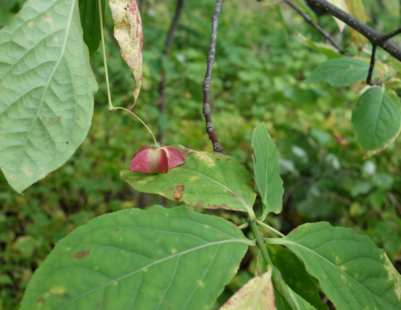
[[[249,217],[248,217],[249,219]],[[292,309],[299,310],[298,304],[296,304],[294,297],[292,296],[286,282],[284,282],[283,277],[281,275],[281,272],[279,269],[277,269],[273,263],[271,262],[271,259],[269,257],[269,253],[267,252],[267,247],[265,245],[265,241],[263,240],[263,237],[258,229],[258,225],[256,221],[249,223],[251,227],[251,231],[253,235],[255,236],[256,239],[256,245],[259,247],[259,251],[263,256],[263,259],[265,260],[265,263],[267,265],[267,268],[269,268],[269,265],[271,266],[271,280],[273,282],[274,288],[277,290],[277,292],[288,302],[288,304],[292,307]]]

